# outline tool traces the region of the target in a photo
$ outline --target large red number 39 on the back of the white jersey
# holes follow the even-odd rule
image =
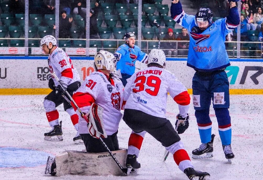
[[[144,89],[145,88],[144,87],[145,82],[146,82],[148,87],[153,87],[154,89],[153,90],[151,90],[150,88]],[[147,80],[146,80],[145,76],[139,76],[135,79],[134,83],[136,83],[135,87],[139,87],[139,89],[137,89],[137,88],[132,89],[132,91],[134,93],[145,91],[146,93],[150,94],[151,96],[157,96],[159,89],[160,89],[161,80],[157,76],[149,76],[147,78]]]

